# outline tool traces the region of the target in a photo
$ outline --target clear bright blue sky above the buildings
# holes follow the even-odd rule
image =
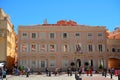
[[[17,32],[19,25],[54,24],[74,20],[80,25],[120,26],[120,0],[0,0]]]

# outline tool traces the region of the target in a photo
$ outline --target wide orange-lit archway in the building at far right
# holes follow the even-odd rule
[[[108,68],[118,68],[120,67],[120,59],[109,58],[108,59]]]

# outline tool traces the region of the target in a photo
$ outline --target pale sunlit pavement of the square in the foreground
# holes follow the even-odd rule
[[[82,80],[118,80],[117,76],[113,76],[113,79],[110,79],[110,76],[107,77],[101,76],[100,74],[94,74],[93,76],[86,76],[86,74],[80,76]],[[26,77],[26,75],[14,76],[14,75],[7,75],[7,78],[4,80],[75,80],[75,75],[67,76],[67,74],[52,75],[51,77],[46,76],[45,74],[42,75],[30,75]]]

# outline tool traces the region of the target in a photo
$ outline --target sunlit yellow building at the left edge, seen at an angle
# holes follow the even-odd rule
[[[10,69],[16,59],[16,33],[9,16],[0,8],[0,62]]]

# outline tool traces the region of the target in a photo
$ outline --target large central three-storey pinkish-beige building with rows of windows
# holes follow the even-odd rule
[[[107,36],[105,26],[78,25],[71,20],[19,26],[18,63],[34,70],[64,70],[71,64],[79,68],[86,63],[94,69],[108,68]]]

